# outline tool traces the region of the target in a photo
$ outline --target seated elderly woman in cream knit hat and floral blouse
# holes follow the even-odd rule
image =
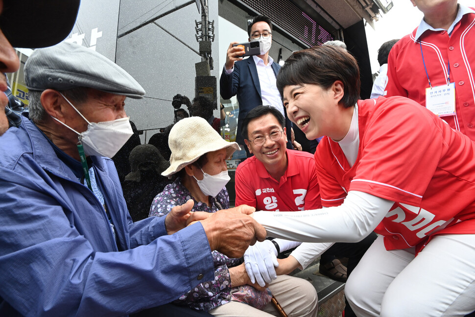
[[[155,197],[150,216],[165,216],[171,208],[189,199],[194,201],[191,211],[213,213],[229,208],[229,196],[224,187],[229,181],[226,159],[239,148],[237,143],[224,141],[206,120],[190,117],[173,126],[168,144],[171,149],[170,167],[162,175],[175,175],[176,178]],[[289,313],[295,313],[292,315],[316,315],[315,298],[298,303],[292,299],[294,292],[302,291],[302,288],[314,291],[309,282],[285,275],[272,281],[269,288],[261,288],[258,284],[251,284],[244,264],[240,264],[241,259],[231,259],[217,251],[213,251],[213,259],[214,280],[194,287],[180,296],[175,304],[187,305],[214,316],[279,316],[277,309],[270,304],[271,289],[284,310],[288,308]]]

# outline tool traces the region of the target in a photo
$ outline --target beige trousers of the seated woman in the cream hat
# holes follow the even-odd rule
[[[269,284],[269,289],[277,298],[289,317],[316,317],[318,312],[317,292],[313,285],[299,277],[288,275],[277,276]],[[210,311],[219,317],[271,317],[280,316],[272,303],[258,310],[239,302],[229,302]]]

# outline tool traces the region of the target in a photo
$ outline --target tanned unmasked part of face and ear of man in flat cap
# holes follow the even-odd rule
[[[122,95],[89,89],[85,102],[74,104],[73,101],[70,101],[89,122],[106,122],[127,116],[124,110],[125,98]],[[71,106],[65,109],[67,109],[65,117],[68,117],[65,118],[67,119],[65,123],[78,132],[86,131],[88,123]]]

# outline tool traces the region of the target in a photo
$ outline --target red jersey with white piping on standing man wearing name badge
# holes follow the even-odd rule
[[[426,106],[426,88],[455,83],[455,116],[442,117],[475,141],[475,13],[463,15],[451,35],[426,30],[415,42],[417,28],[396,43],[388,57],[386,97],[403,96]],[[450,63],[450,68],[448,65]],[[450,71],[450,72],[448,72]]]

